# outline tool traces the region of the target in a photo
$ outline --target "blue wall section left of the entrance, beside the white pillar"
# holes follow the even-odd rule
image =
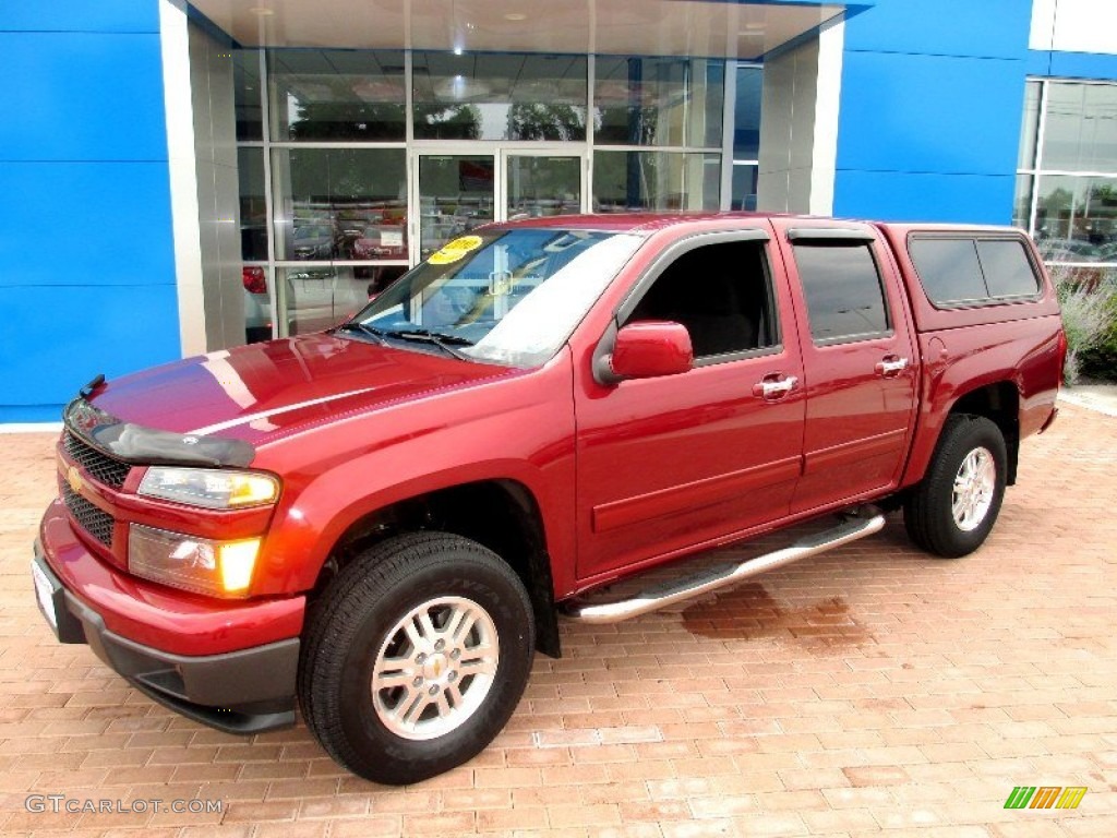
[[[179,358],[156,0],[0,4],[0,422]]]

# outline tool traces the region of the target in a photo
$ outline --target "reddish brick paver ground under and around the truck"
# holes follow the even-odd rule
[[[302,726],[181,718],[55,644],[28,575],[51,445],[0,436],[6,836],[1117,836],[1117,419],[1065,408],[1028,440],[970,558],[929,559],[892,520],[685,609],[565,623],[497,741],[403,789],[346,775]],[[1006,810],[1015,785],[1089,791]],[[39,813],[28,794],[222,811]]]

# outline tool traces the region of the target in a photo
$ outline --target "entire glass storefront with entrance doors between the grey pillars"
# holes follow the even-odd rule
[[[678,57],[233,50],[246,335],[334,325],[413,256],[494,219],[716,210],[726,72]],[[755,155],[761,70],[728,72],[751,103],[735,147]],[[487,144],[454,145],[471,140]],[[734,206],[754,206],[747,163]]]

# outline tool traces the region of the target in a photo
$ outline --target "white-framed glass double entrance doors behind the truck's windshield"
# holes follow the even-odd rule
[[[489,221],[583,212],[584,160],[581,153],[534,149],[419,153],[414,260]]]

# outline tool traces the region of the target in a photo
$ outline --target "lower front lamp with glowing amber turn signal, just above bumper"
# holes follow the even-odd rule
[[[244,597],[259,539],[210,541],[143,524],[128,528],[128,570],[137,577],[213,597]]]

